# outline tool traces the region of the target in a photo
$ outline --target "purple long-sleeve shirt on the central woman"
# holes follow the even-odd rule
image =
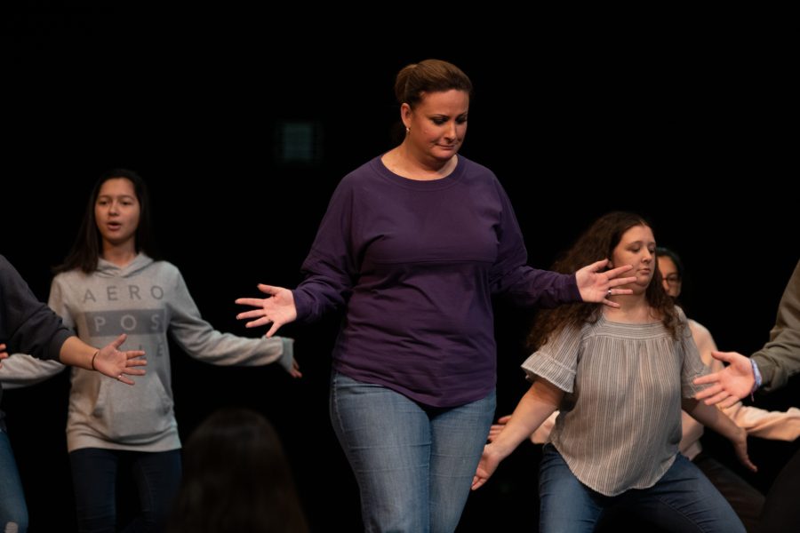
[[[452,407],[495,386],[492,296],[524,306],[580,301],[574,275],[526,261],[492,171],[459,156],[446,178],[419,181],[376,157],[333,193],[294,302],[303,322],[347,305],[335,370]]]

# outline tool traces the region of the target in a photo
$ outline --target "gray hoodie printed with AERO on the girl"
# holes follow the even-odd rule
[[[166,451],[180,448],[172,409],[167,331],[187,354],[219,365],[292,368],[291,338],[244,338],[214,330],[189,295],[177,267],[139,254],[125,267],[104,259],[92,274],[72,270],[52,280],[49,305],[92,346],[127,333],[121,349],[144,350],[148,365],[136,385],[91,370],[72,369],[67,445]],[[60,372],[59,362],[14,354],[3,363],[4,386],[30,385]]]

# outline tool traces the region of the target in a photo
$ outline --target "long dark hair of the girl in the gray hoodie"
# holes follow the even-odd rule
[[[150,211],[152,210],[150,208],[150,196],[148,194],[147,184],[145,184],[144,179],[141,179],[141,176],[134,171],[128,169],[113,169],[103,172],[100,179],[94,183],[92,194],[89,195],[89,202],[86,203],[84,219],[81,221],[81,227],[78,230],[75,243],[72,245],[72,250],[69,251],[67,259],[64,259],[64,262],[58,267],[53,268],[55,274],[77,268],[81,269],[86,274],[92,274],[92,272],[97,270],[97,261],[102,251],[102,237],[97,227],[97,219],[94,216],[94,204],[97,203],[97,197],[100,195],[100,187],[102,187],[108,179],[115,178],[129,180],[133,184],[133,191],[136,194],[136,199],[139,201],[139,226],[136,228],[135,235],[137,253],[143,251],[148,254],[149,257],[159,259],[150,223]]]

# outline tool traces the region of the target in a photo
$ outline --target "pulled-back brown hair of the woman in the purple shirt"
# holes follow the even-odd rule
[[[443,60],[424,60],[406,65],[397,73],[397,102],[417,105],[424,92],[465,91],[472,97],[472,82],[460,68]]]

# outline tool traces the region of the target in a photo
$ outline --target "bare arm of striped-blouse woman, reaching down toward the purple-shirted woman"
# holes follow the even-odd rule
[[[545,379],[537,378],[516,406],[508,424],[493,442],[484,446],[484,454],[478,464],[472,489],[478,489],[500,465],[500,461],[531,436],[561,402],[564,391]]]

